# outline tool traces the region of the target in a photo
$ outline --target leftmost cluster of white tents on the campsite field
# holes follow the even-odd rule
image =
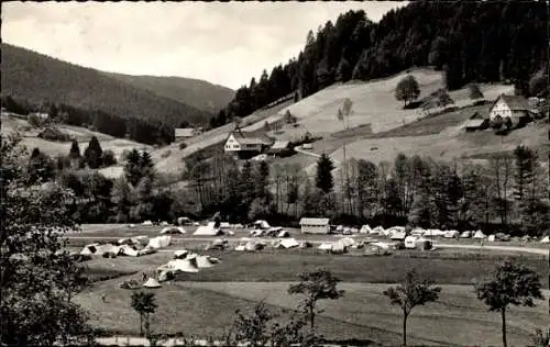
[[[80,255],[82,256],[130,256],[139,257],[155,253],[157,249],[169,246],[172,236],[135,236],[121,238],[116,244],[90,244],[86,245]]]

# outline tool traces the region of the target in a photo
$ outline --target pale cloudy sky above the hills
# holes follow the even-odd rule
[[[309,30],[406,2],[4,2],[2,41],[105,71],[238,89],[296,57]]]

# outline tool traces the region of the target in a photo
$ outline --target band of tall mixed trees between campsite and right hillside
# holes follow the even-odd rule
[[[550,227],[548,169],[525,146],[485,165],[399,154],[394,163],[352,158],[339,172],[334,168],[327,155],[308,176],[292,165],[239,167],[220,154],[195,165],[187,178],[201,211],[220,211],[234,222],[326,216],[355,225],[496,228],[532,236]]]

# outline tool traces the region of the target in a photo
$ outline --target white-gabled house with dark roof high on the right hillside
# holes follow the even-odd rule
[[[515,127],[530,117],[529,110],[529,102],[524,97],[501,94],[491,105],[488,117],[492,124],[509,119]]]

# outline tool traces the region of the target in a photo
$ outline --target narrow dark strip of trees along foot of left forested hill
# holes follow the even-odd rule
[[[32,104],[26,100],[10,96],[1,97],[2,108],[8,112],[28,115],[45,112],[50,122],[82,126],[118,138],[130,138],[147,145],[165,145],[174,142],[174,127],[155,120],[121,116],[101,110],[85,110],[64,103],[43,102]]]

